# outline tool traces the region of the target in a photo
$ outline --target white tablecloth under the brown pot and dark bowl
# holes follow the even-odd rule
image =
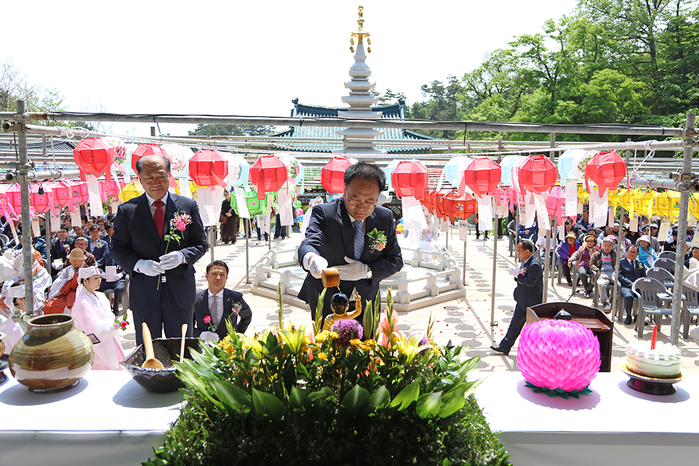
[[[0,465],[139,465],[180,413],[180,393],[149,393],[124,371],[90,371],[62,393],[0,386]]]

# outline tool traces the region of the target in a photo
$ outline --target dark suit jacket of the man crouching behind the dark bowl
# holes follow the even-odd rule
[[[233,303],[240,303],[241,307],[238,310],[238,314],[233,312]],[[228,335],[228,328],[226,328],[226,319],[231,320],[231,325],[236,329],[238,333],[245,333],[247,326],[250,325],[252,321],[252,310],[250,306],[245,303],[243,299],[243,294],[238,293],[238,291],[229,290],[224,288],[223,290],[223,315],[221,316],[221,322],[219,322],[216,333],[219,338],[223,339]],[[209,290],[202,290],[196,292],[196,304],[194,305],[194,325],[192,326],[192,335],[194,337],[199,337],[202,332],[208,332],[209,324],[204,321],[204,317],[210,316],[209,312]]]

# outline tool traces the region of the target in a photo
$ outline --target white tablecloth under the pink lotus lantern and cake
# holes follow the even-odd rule
[[[593,393],[550,398],[524,386],[519,372],[487,377],[475,395],[515,466],[699,464],[699,377],[674,395],[646,395],[622,372],[600,373]]]

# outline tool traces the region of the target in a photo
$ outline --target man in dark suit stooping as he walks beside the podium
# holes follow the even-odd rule
[[[526,308],[542,303],[544,298],[544,277],[541,263],[535,258],[534,245],[531,241],[522,240],[517,243],[517,256],[521,260],[521,266],[511,267],[508,272],[517,282],[514,289],[514,300],[517,305],[514,307],[514,315],[510,321],[510,328],[507,328],[505,338],[500,341],[497,347],[491,347],[493,351],[502,354],[510,354],[510,349],[517,340],[519,334],[526,323]]]

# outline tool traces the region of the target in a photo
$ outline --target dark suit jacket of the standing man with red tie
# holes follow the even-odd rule
[[[194,306],[194,263],[206,253],[208,243],[196,202],[173,193],[168,194],[165,205],[164,235],[168,233],[170,221],[178,210],[192,217],[192,223],[187,225],[185,231],[179,232],[179,243],[174,240],[168,243],[158,237],[145,194],[121,204],[117,210],[110,254],[131,277],[130,306],[134,311],[160,310],[162,295],[168,289],[180,309]],[[168,286],[159,286],[159,277],[134,271],[139,259],[159,261],[159,257],[166,254],[166,249],[167,252],[181,251],[185,255],[185,263],[165,272]]]

